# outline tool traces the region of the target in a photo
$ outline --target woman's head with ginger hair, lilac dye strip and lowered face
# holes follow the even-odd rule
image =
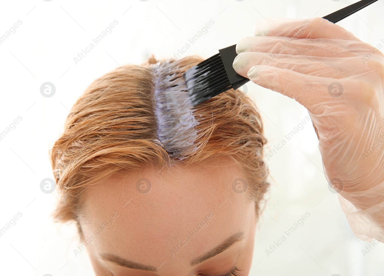
[[[201,61],[120,67],[68,115],[51,150],[55,217],[76,221],[76,250],[87,249],[97,275],[249,271],[268,188],[262,123],[232,89],[185,107],[182,74]]]

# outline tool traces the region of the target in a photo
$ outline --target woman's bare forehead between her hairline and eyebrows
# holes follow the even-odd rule
[[[188,236],[190,258],[244,231],[254,206],[233,181],[246,178],[230,161],[205,166],[143,170],[109,178],[84,191],[81,226],[97,253],[114,253],[137,262],[161,261]],[[111,218],[112,217],[112,218]],[[113,219],[113,221],[112,221]],[[103,226],[104,224],[104,226]],[[192,236],[196,236],[193,238]],[[149,254],[151,258],[149,258]],[[153,257],[152,257],[153,256]],[[180,261],[180,260],[179,260]]]

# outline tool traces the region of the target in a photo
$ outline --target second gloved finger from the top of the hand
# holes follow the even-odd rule
[[[291,37],[245,37],[236,45],[236,52],[263,52],[316,57],[354,57],[382,53],[373,46],[353,40],[298,39]]]

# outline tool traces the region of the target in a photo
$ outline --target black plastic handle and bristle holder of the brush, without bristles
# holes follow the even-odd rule
[[[349,5],[348,7],[342,8],[341,10],[326,15],[323,18],[328,20],[329,22],[336,23],[348,17],[349,15],[357,12],[358,10],[361,10],[362,8],[367,7],[368,5],[371,5],[376,1],[377,0],[361,0],[352,5]],[[235,60],[235,57],[237,56],[236,44],[226,48],[222,48],[218,50],[218,52],[220,53],[220,57],[223,61],[223,65],[225,71],[227,72],[228,80],[231,83],[232,88],[236,90],[240,86],[247,83],[249,79],[240,76],[232,67],[233,60]]]

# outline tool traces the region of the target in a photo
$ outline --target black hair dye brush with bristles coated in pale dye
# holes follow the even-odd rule
[[[361,0],[323,18],[336,23],[377,0]],[[237,89],[249,81],[232,67],[237,56],[236,44],[218,50],[218,54],[191,67],[184,73],[189,98],[193,106],[202,103],[230,88]]]

